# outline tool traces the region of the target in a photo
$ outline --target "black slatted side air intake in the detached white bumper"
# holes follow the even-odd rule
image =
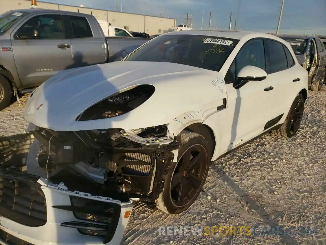
[[[74,196],[70,196],[70,202],[71,206],[53,206],[53,208],[72,211],[75,218],[81,221],[68,221],[62,223],[62,226],[76,228],[83,235],[103,237],[103,243],[111,241],[120,219],[119,204]]]

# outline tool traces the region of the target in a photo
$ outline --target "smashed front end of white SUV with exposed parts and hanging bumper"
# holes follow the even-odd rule
[[[0,243],[119,244],[132,201],[155,206],[179,146],[165,125],[1,137]]]

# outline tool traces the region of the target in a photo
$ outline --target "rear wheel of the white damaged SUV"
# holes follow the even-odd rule
[[[294,99],[291,108],[289,110],[289,113],[282,126],[276,130],[272,130],[272,133],[277,136],[282,136],[283,138],[291,138],[292,136],[294,136],[299,129],[303,112],[304,112],[304,97],[302,94],[298,94]],[[298,121],[292,124],[294,120],[295,121],[298,120]]]

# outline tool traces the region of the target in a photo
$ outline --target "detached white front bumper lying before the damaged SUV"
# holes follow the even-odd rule
[[[0,244],[117,245],[121,243],[132,211],[131,201],[123,203],[109,197],[92,196],[88,193],[68,191],[63,183],[54,185],[44,178],[40,178],[37,181],[35,179],[29,179],[28,176],[33,175],[21,173],[16,173],[16,175],[14,178],[10,178],[8,175],[1,174],[0,177]],[[34,184],[32,183],[33,181]],[[22,187],[19,187],[20,184]],[[30,186],[32,187],[30,188]],[[30,190],[34,187],[37,188],[36,192]],[[28,199],[26,199],[28,198],[28,191],[32,193],[30,195],[30,211],[28,211]],[[40,198],[44,199],[44,202],[41,201],[43,203],[38,201]],[[17,199],[23,201],[18,202]],[[103,214],[104,211],[96,211],[91,206],[73,206],[72,199],[96,203],[94,204],[95,206],[113,206],[110,212],[105,212],[105,215],[108,214],[108,218],[111,217],[111,219],[109,218],[109,223],[96,221],[94,219],[96,215],[93,215],[93,218],[80,219],[80,216],[77,214],[81,212],[86,214],[87,211],[93,210],[97,214],[99,212]],[[43,211],[35,209],[34,207],[37,205],[42,206]],[[46,207],[46,213],[44,212],[44,206]],[[6,212],[6,210],[10,212]],[[39,217],[43,218],[39,219]],[[35,219],[35,223],[33,223],[33,219]],[[27,223],[28,225],[26,225]],[[34,225],[34,227],[31,225]],[[92,229],[92,235],[82,234]],[[105,235],[101,237],[96,236],[94,234],[94,230],[96,229],[98,231],[96,231],[97,235],[99,233]]]

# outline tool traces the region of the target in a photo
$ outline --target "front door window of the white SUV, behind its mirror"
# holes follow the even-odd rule
[[[265,70],[265,51],[262,39],[248,41],[239,51],[225,76],[225,82],[235,81],[239,71],[245,66],[256,66]]]

